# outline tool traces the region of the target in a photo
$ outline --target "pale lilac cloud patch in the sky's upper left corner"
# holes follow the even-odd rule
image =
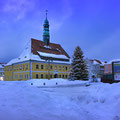
[[[23,19],[28,11],[35,7],[33,0],[7,0],[4,5],[3,12],[15,14],[16,20]]]

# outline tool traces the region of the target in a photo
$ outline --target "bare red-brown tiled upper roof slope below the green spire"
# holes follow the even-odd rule
[[[38,52],[45,52],[57,55],[65,55],[70,58],[66,51],[61,47],[60,44],[50,43],[49,47],[41,40],[31,39],[31,51],[33,54],[38,55]]]

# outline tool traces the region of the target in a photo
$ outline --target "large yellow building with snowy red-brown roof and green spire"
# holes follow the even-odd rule
[[[5,80],[67,78],[70,57],[60,44],[50,43],[49,22],[44,22],[43,41],[31,39],[23,53],[5,66]]]

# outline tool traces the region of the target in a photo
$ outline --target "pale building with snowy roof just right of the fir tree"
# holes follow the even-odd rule
[[[92,75],[100,78],[104,74],[104,63],[97,59],[85,59],[86,64],[88,66],[89,77],[91,78]]]

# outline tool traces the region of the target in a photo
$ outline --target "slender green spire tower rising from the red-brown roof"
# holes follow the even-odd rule
[[[43,42],[49,46],[50,43],[50,34],[49,34],[49,21],[47,19],[47,10],[46,10],[46,18],[43,24]]]

